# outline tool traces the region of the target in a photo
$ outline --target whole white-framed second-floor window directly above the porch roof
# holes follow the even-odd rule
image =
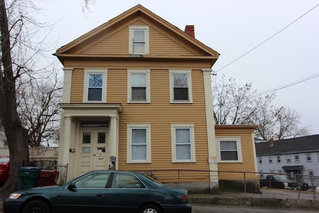
[[[85,69],[83,102],[106,103],[107,69]]]

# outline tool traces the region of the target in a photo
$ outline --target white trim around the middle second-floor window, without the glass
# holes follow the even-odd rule
[[[146,74],[146,100],[131,100],[132,96],[132,73]],[[151,70],[150,69],[128,69],[128,103],[151,103]]]

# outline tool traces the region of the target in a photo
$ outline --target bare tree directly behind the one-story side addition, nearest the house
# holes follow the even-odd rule
[[[215,124],[242,125],[251,124],[254,113],[267,106],[275,98],[275,94],[254,96],[257,91],[252,90],[252,83],[239,86],[235,79],[225,79],[223,75],[220,82],[214,82],[214,120]]]

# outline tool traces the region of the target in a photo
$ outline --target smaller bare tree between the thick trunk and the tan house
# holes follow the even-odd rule
[[[32,78],[17,87],[17,110],[28,130],[31,147],[58,144],[62,87],[57,72],[48,74],[46,78]]]

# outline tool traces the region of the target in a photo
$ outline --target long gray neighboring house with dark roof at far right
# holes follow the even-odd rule
[[[319,135],[267,142],[255,139],[255,147],[261,173],[319,176]]]

